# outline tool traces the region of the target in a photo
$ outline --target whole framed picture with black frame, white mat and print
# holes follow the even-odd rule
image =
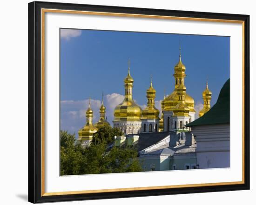
[[[28,4],[28,200],[249,189],[249,15]]]

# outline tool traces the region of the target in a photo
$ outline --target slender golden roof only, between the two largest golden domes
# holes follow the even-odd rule
[[[152,85],[152,78],[150,82],[150,87],[147,90],[148,105],[142,110],[142,119],[160,119],[159,110],[155,108],[155,89]]]

